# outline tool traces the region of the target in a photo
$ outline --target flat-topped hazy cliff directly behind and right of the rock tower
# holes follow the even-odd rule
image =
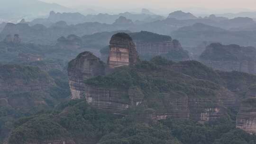
[[[163,56],[169,60],[184,61],[189,55],[183,50],[178,40],[172,40],[170,36],[158,35],[141,31],[129,34],[136,45],[138,54],[143,59],[151,59],[155,56]]]

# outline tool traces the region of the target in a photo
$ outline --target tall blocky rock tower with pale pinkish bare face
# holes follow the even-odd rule
[[[113,35],[110,40],[109,68],[133,65],[137,61],[138,54],[132,38],[126,33]]]

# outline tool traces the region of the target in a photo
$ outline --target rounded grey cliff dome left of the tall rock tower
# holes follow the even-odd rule
[[[69,85],[72,99],[82,99],[85,95],[85,80],[104,75],[105,66],[98,57],[90,52],[79,54],[68,64]]]

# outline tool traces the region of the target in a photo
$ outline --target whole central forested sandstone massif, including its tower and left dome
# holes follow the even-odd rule
[[[177,41],[173,42],[176,49],[181,49]],[[223,87],[217,72],[199,62],[174,63],[155,57],[135,64],[134,43],[124,33],[110,40],[110,73],[103,73],[104,66],[99,67],[94,55],[90,54],[96,60],[92,65],[83,64],[91,61],[86,58],[88,53],[79,55],[68,68],[72,99],[84,98],[94,108],[120,112],[143,106],[154,109],[158,120],[171,117],[204,123],[227,115],[226,109],[234,107],[238,99]]]

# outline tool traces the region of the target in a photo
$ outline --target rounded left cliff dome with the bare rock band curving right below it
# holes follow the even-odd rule
[[[121,99],[126,91],[91,86],[86,80],[104,75],[105,66],[90,52],[83,52],[68,66],[69,85],[72,99],[86,99],[91,106],[99,109],[125,110],[130,106],[129,99]],[[135,102],[136,103],[136,102]]]

